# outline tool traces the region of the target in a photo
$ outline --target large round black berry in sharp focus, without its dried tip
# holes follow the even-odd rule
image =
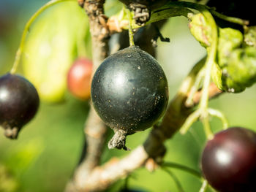
[[[128,47],[99,66],[91,83],[91,100],[110,128],[133,134],[153,126],[165,112],[167,79],[151,55]]]

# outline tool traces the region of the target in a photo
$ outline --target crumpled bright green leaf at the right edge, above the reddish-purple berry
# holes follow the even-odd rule
[[[256,48],[242,47],[243,34],[219,28],[218,64],[212,79],[222,91],[240,93],[256,81]]]

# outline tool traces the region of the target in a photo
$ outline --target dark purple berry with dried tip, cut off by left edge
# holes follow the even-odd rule
[[[0,77],[0,126],[11,139],[34,117],[39,107],[39,96],[34,85],[24,77],[5,74]]]

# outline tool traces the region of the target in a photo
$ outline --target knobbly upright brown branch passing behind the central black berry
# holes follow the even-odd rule
[[[93,63],[95,72],[99,64],[108,55],[110,34],[106,26],[106,17],[103,15],[105,0],[78,0],[78,3],[83,5],[89,16],[92,47],[94,47]],[[92,106],[84,130],[86,147],[83,150],[86,150],[86,152],[83,151],[83,154],[85,156],[82,157],[78,168],[75,170],[72,181],[67,184],[66,191],[78,191],[83,188],[84,180],[87,180],[91,171],[99,165],[107,128]]]

